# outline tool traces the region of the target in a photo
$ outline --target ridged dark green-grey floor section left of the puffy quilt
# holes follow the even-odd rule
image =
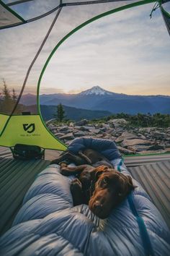
[[[50,161],[0,158],[0,234],[14,221],[27,190]]]

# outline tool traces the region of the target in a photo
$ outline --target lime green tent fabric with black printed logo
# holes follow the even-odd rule
[[[5,122],[8,116],[0,115],[0,118]],[[11,116],[6,123],[0,137],[2,146],[14,147],[15,144],[24,142],[27,145],[39,145],[41,148],[66,150],[66,145],[47,131],[40,115]]]

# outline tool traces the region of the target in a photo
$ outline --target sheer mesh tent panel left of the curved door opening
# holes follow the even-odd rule
[[[40,76],[40,70],[42,69],[43,64],[48,58],[50,52],[65,35],[67,35],[71,30],[73,30],[81,23],[86,22],[86,20],[102,14],[103,12],[108,12],[111,9],[115,9],[116,7],[124,6],[127,3],[129,4],[130,1],[109,2],[97,5],[78,5],[63,8],[61,10],[61,14],[58,17],[58,20],[55,22],[55,27],[53,27],[53,30],[50,33],[45,46],[42,48],[40,56],[38,56],[35,64],[32,67],[27,80],[27,85],[24,89],[24,94],[30,92],[35,95],[37,94],[37,81]],[[37,20],[36,22],[29,23],[22,27],[14,27],[12,28],[12,32],[10,30],[3,31],[3,36],[6,37],[6,41],[8,41],[10,34],[10,37],[16,43],[15,46],[13,46],[13,49],[11,48],[10,42],[7,43],[4,47],[2,46],[2,48],[5,48],[5,51],[1,55],[2,58],[3,55],[8,55],[9,51],[12,51],[13,54],[10,58],[11,67],[7,67],[5,70],[2,68],[3,72],[1,75],[6,79],[9,73],[12,74],[12,80],[8,79],[6,82],[9,84],[9,87],[11,84],[13,84],[14,88],[17,88],[17,92],[19,92],[22,88],[22,82],[29,67],[29,63],[31,63],[40,46],[40,43],[45,37],[45,34],[48,30],[47,27],[50,27],[54,15],[55,14],[51,14],[42,20]],[[29,53],[29,56],[27,53]],[[27,61],[25,61],[25,58],[27,58]],[[24,103],[24,95],[22,96],[19,103]],[[36,103],[37,98],[32,98],[30,105],[35,106],[32,108],[32,114],[37,114]],[[22,111],[27,110],[19,105],[14,114],[21,114]],[[6,114],[11,114],[11,112],[12,108]]]

